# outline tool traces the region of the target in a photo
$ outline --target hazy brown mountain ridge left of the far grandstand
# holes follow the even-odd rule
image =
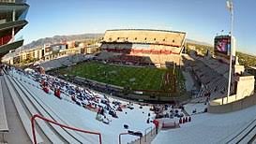
[[[82,34],[82,35],[70,35],[70,36],[53,36],[53,37],[45,37],[40,38],[38,40],[32,41],[31,43],[24,45],[20,49],[29,50],[32,48],[41,47],[44,44],[54,44],[62,41],[72,41],[72,40],[85,40],[102,37],[104,34]],[[20,50],[17,49],[17,50]]]

